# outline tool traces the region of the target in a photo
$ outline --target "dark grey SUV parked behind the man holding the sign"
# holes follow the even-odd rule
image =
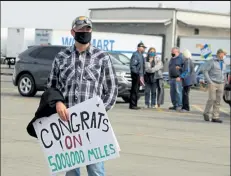
[[[18,86],[18,91],[22,96],[31,97],[37,91],[44,91],[52,62],[56,54],[64,48],[65,46],[55,45],[32,46],[19,54],[16,58],[13,84]],[[113,53],[114,57],[112,57],[119,82],[118,97],[121,97],[125,102],[129,102],[131,90],[130,68],[116,59],[115,55],[120,55],[120,53]],[[140,91],[143,95],[143,88]]]

